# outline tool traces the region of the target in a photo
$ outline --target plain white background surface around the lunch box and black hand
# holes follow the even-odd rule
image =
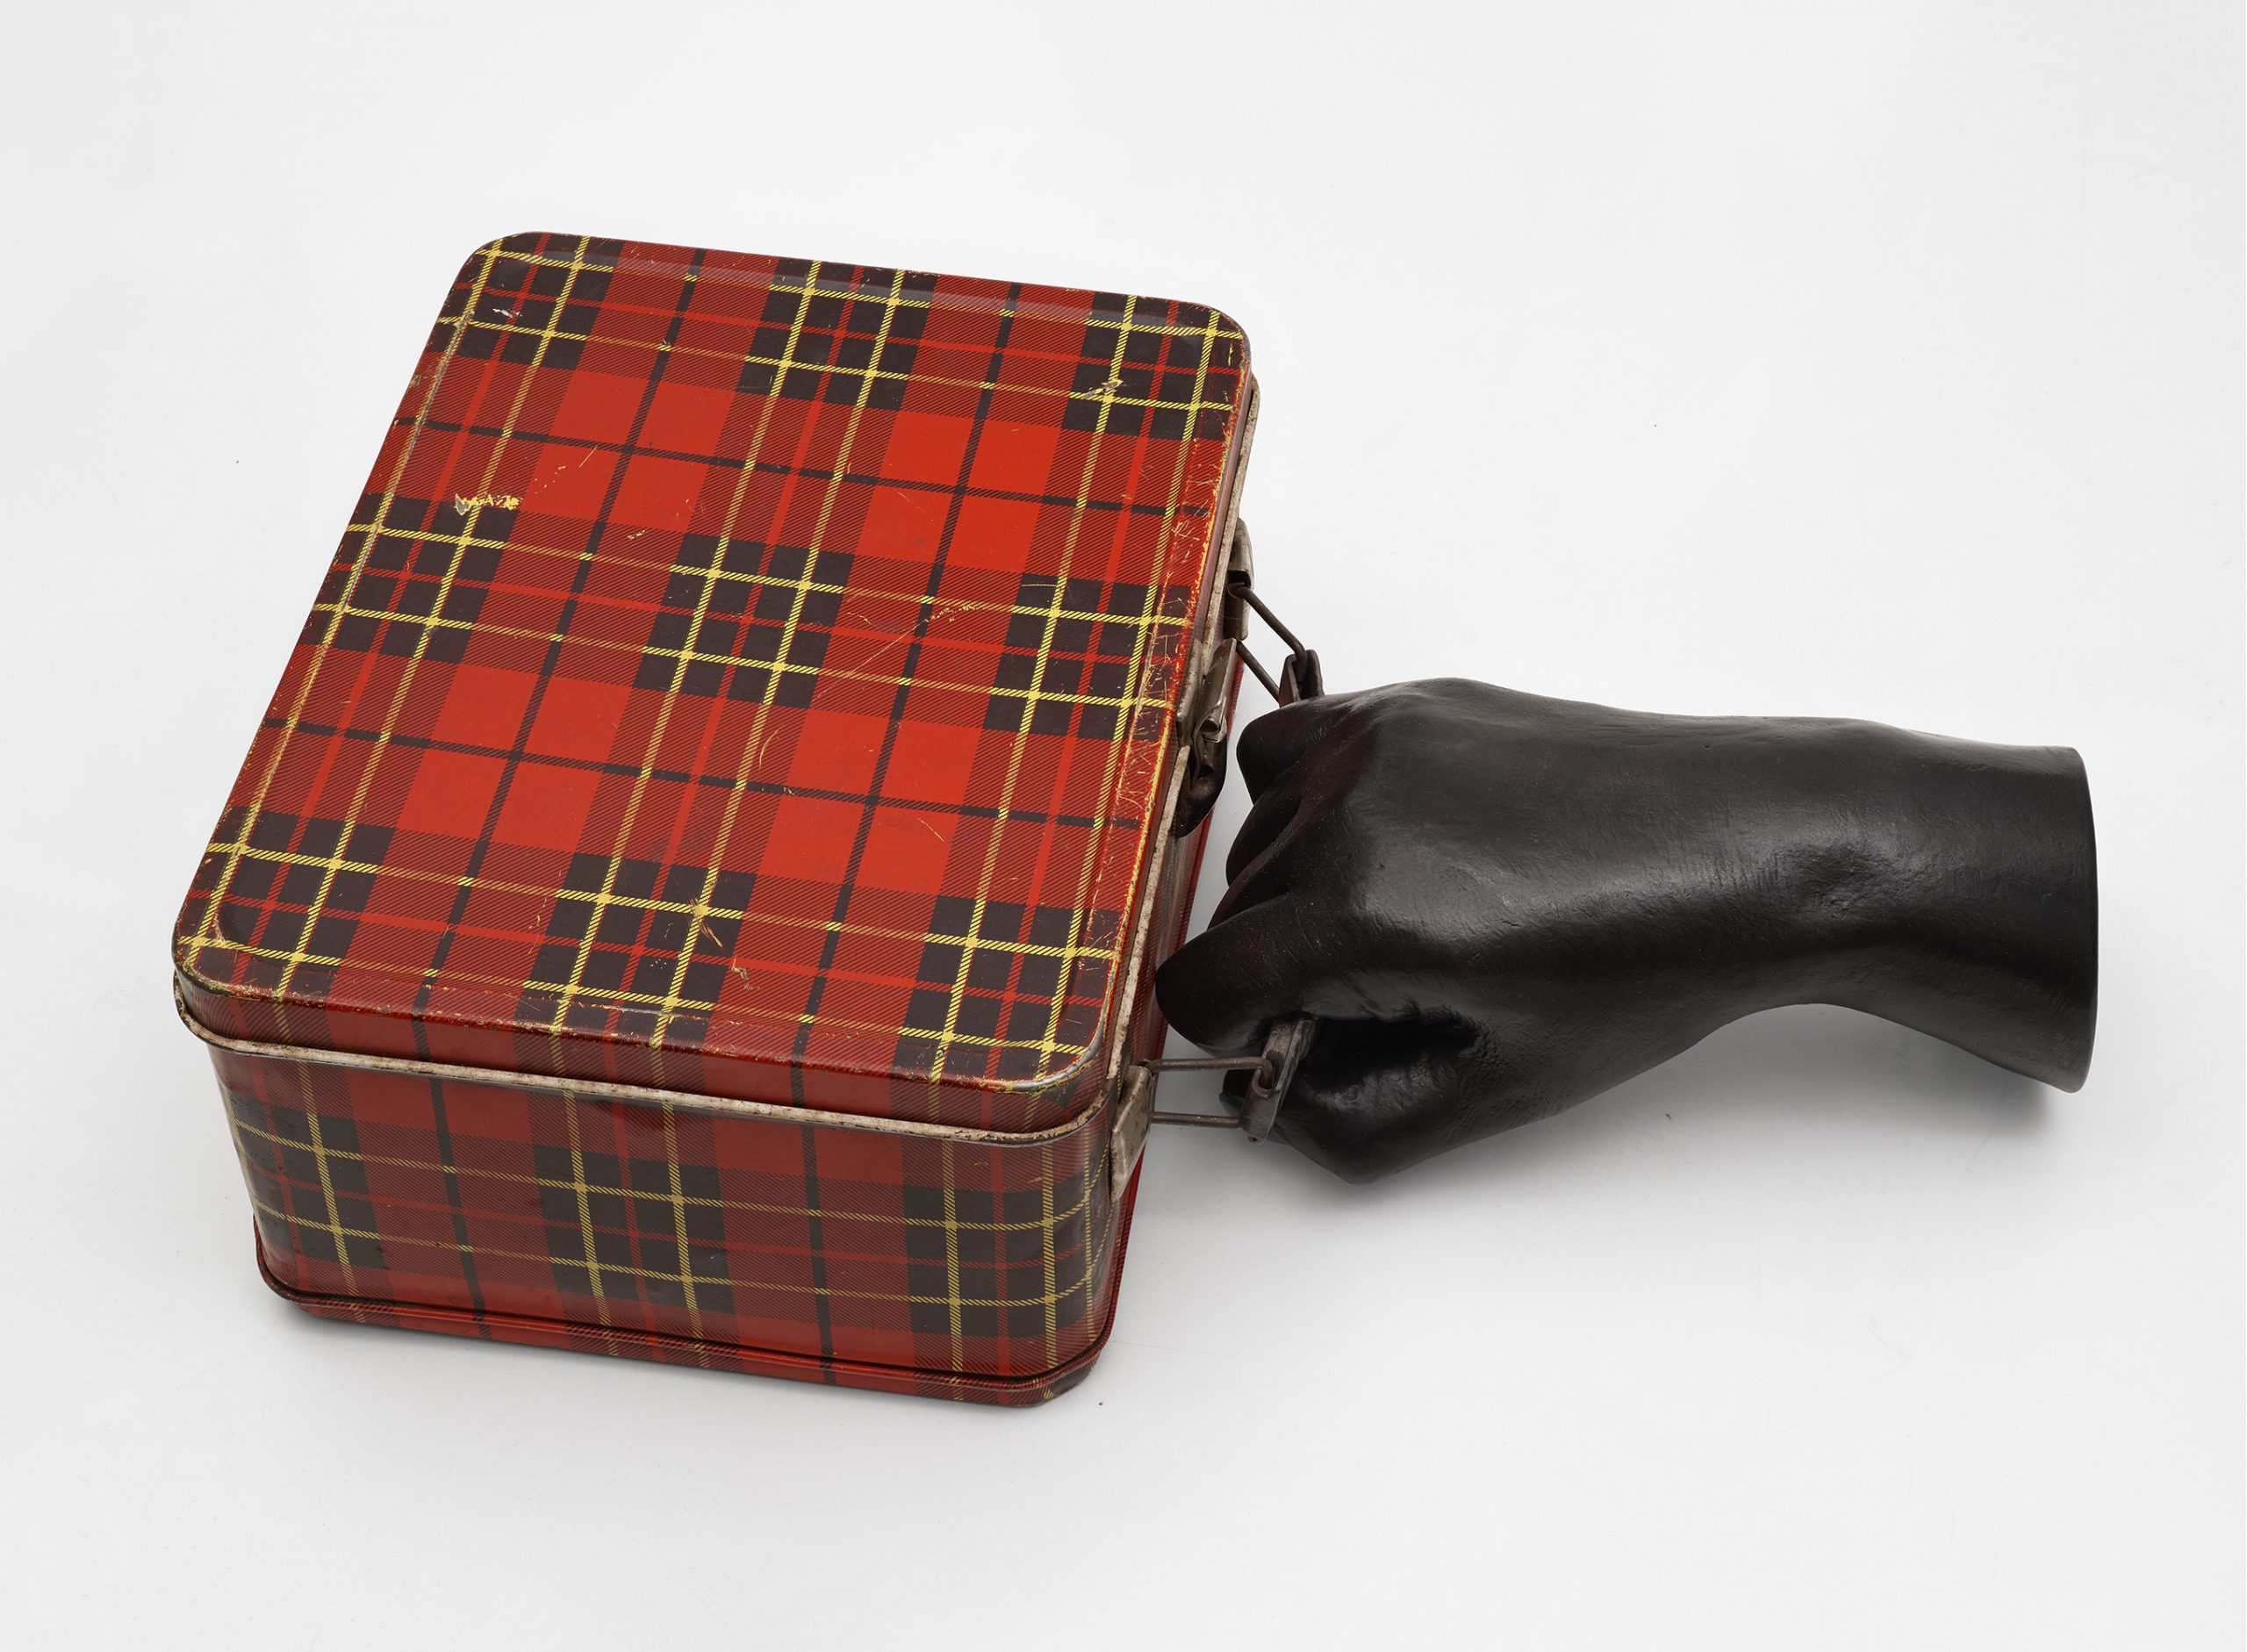
[[[2238,1645],[2238,7],[43,7],[0,81],[13,1645]],[[1337,686],[2078,746],[2090,1086],[1802,1009],[1373,1189],[1162,1135],[1022,1414],[285,1308],[166,935],[515,229],[1227,308]]]

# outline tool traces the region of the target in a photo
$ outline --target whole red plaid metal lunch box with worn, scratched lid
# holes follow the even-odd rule
[[[173,940],[265,1281],[908,1394],[1083,1378],[1254,409],[1195,303],[474,252]]]

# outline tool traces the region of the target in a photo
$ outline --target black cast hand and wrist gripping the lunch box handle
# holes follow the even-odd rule
[[[1279,1135],[1353,1180],[1541,1119],[1755,1009],[1834,1002],[2076,1088],[2096,1002],[2076,753],[1661,717],[1470,681],[1281,708],[1171,1023],[1319,1034]]]

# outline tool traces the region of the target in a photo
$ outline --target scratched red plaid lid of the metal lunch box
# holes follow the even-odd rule
[[[1079,1115],[1247,393],[1200,306],[479,249],[180,915],[193,1014]]]

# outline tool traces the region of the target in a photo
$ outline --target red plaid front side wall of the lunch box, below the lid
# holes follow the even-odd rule
[[[1108,1328],[1106,1110],[1002,1146],[211,1054],[315,1313],[1016,1403]]]

